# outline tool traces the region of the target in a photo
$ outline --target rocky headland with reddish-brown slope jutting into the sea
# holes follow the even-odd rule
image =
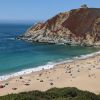
[[[20,37],[32,42],[100,46],[100,9],[81,7],[37,23]]]

